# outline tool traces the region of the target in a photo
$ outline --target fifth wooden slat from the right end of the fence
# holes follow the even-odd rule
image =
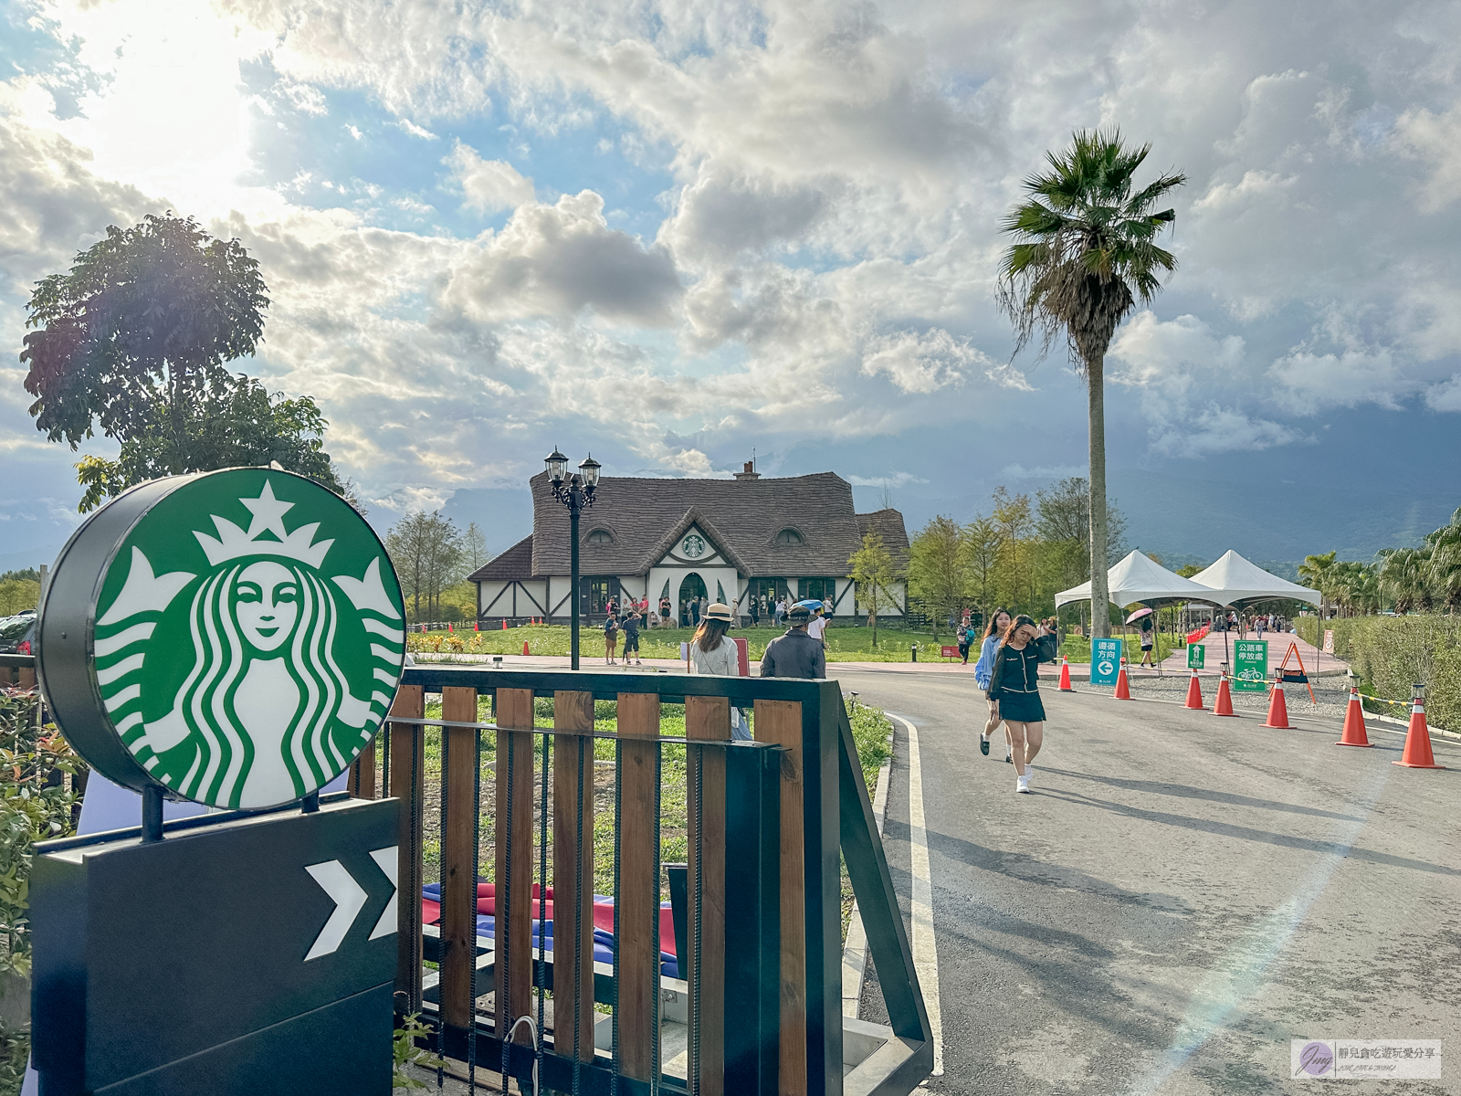
[[[497,690],[497,842],[494,877],[497,881],[497,1030],[506,1033],[517,1017],[530,1008],[532,986],[532,886],[533,886],[533,691]],[[511,751],[511,818],[508,818],[507,758]],[[507,850],[511,840],[511,880],[507,877]],[[504,891],[507,891],[504,894]],[[516,1042],[530,1043],[527,1027],[517,1030]]]

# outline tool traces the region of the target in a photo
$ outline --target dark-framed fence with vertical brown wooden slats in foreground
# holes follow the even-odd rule
[[[440,696],[440,716],[427,718],[428,696]],[[492,719],[479,715],[485,699]],[[539,699],[551,699],[551,720],[535,719]],[[617,701],[612,731],[595,731],[595,700]],[[684,704],[682,738],[660,734],[663,704]],[[754,712],[754,742],[730,741],[732,704]],[[352,769],[351,792],[402,801],[397,1011],[427,1017],[431,1048],[454,1071],[494,1087],[511,1076],[523,1092],[536,1071],[543,1090],[625,1096],[891,1095],[928,1076],[928,1017],[836,684],[415,666],[390,720],[380,756],[373,745]],[[612,824],[595,826],[605,741]],[[440,757],[430,811],[428,748]],[[660,818],[675,750],[687,884],[671,945]],[[440,864],[430,880],[428,840]],[[596,903],[603,842],[612,886]],[[888,1027],[842,1016],[840,856]],[[430,883],[441,887],[440,921],[424,925]],[[484,883],[489,940],[478,928]],[[608,940],[595,937],[603,899]],[[609,962],[595,960],[596,940]],[[662,953],[681,978],[663,973]]]

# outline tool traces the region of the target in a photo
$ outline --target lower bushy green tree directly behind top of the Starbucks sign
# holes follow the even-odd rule
[[[86,488],[82,513],[94,510],[143,479],[175,472],[278,463],[307,475],[336,494],[349,494],[324,452],[329,424],[308,396],[285,399],[244,376],[212,376],[188,406],[181,434],[155,421],[121,443],[115,460],[85,456],[76,479]],[[351,503],[361,509],[354,498]]]

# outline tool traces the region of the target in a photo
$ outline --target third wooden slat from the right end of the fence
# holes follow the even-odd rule
[[[618,732],[625,738],[659,738],[659,696],[619,693]],[[621,744],[619,769],[619,1073],[650,1080],[655,1032],[653,1004],[659,992],[659,956],[653,928],[659,918],[655,878],[655,779],[657,742]]]

